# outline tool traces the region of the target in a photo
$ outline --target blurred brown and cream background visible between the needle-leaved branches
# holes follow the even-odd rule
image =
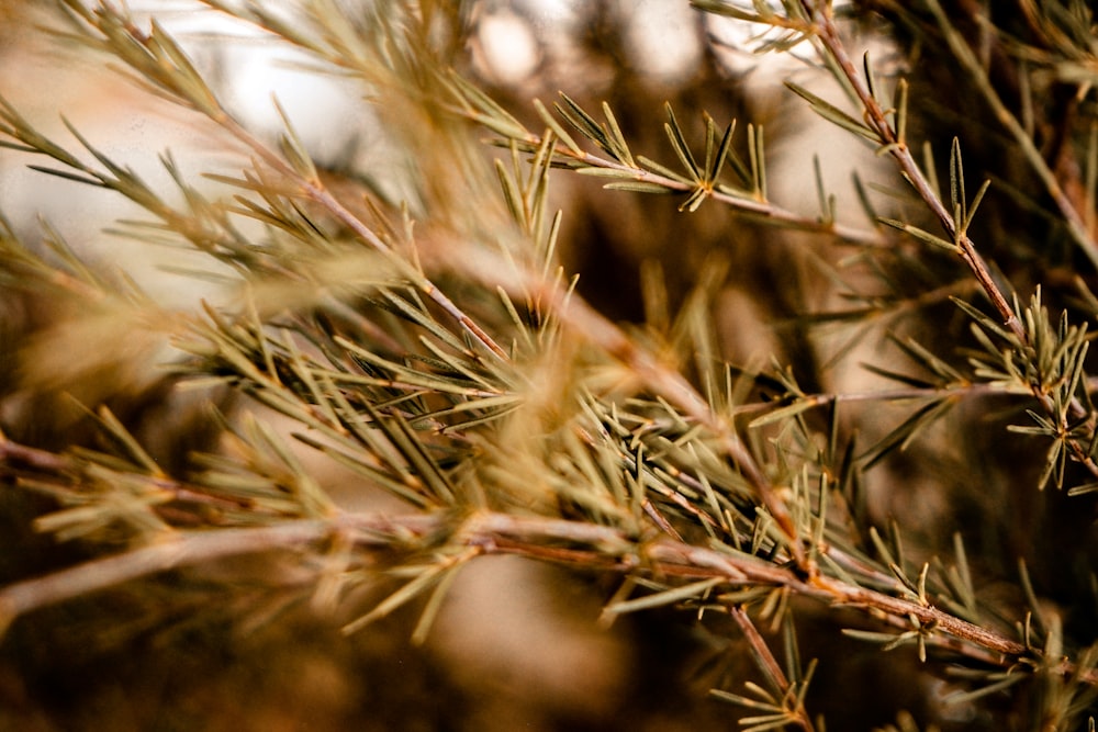
[[[294,2],[260,1],[294,12]],[[919,102],[911,124],[935,149],[948,151],[948,142],[940,143],[952,127],[943,123],[965,122],[943,112],[955,89],[932,76],[940,67],[920,76],[922,52],[910,37],[883,34],[870,12],[875,4],[887,5],[849,5],[851,42],[872,50],[883,82],[889,83],[889,70],[905,71],[915,88],[941,92],[912,94]],[[197,181],[202,171],[232,172],[239,165],[208,131],[180,121],[172,109],[104,68],[101,58],[42,31],[40,24],[56,22],[48,5],[2,5],[0,93],[21,113],[70,139],[64,113],[99,149],[165,185],[169,180],[157,154],[167,149]],[[228,106],[258,133],[279,129],[274,93],[333,180],[367,184],[393,199],[413,191],[402,150],[354,82],[302,68],[303,58],[284,45],[197,3],[134,0],[130,7],[139,23],[155,15],[176,34]],[[887,161],[815,119],[783,86],[794,79],[819,93],[836,92],[810,54],[754,54],[761,43],[757,29],[703,15],[685,0],[455,0],[451,21],[453,66],[534,127],[531,100],[549,102],[563,90],[587,109],[609,103],[635,150],[671,162],[665,101],[695,142],[702,139],[703,112],[719,125],[732,119],[741,128],[752,123],[765,129],[774,202],[806,215],[818,212],[815,158],[839,201],[840,221],[866,229],[873,222],[856,204],[853,173],[869,188],[897,184]],[[742,135],[737,145],[742,149]],[[1001,140],[983,145],[973,153],[974,168],[999,159]],[[484,155],[492,154],[485,147]],[[43,177],[25,162],[22,154],[0,150],[0,211],[30,246],[42,246],[47,221],[91,266],[109,277],[124,273],[165,306],[194,309],[202,300],[216,303],[222,296],[215,281],[179,272],[209,270],[202,255],[110,233],[113,222],[134,210],[103,191]],[[1010,161],[995,173],[1019,188],[1031,185]],[[563,172],[553,179],[552,195],[567,212],[565,267],[580,274],[580,292],[602,312],[641,322],[646,271],[659,272],[672,307],[697,282],[720,272],[713,317],[725,357],[751,369],[788,364],[808,393],[879,387],[881,378],[863,364],[903,363],[885,333],[931,342],[965,338],[964,319],[948,312],[946,299],[972,294],[963,271],[955,262],[914,257],[910,243],[874,259],[827,237],[761,225],[717,205],[684,214],[673,199],[607,192],[597,180]],[[903,196],[882,194],[877,205],[882,214],[920,215]],[[1051,262],[1045,270],[1033,270],[1032,251],[1004,234],[1019,219],[995,206],[988,204],[991,213],[981,234],[1002,243],[996,251],[1023,292],[1039,274],[1069,277],[1071,254],[1053,255],[1043,260]],[[1033,221],[1040,216],[1023,216],[1021,224],[1040,226]],[[928,291],[938,296],[919,301]],[[870,323],[827,316],[852,302],[851,307],[864,304],[852,296],[859,292],[899,305],[883,306]],[[173,358],[165,341],[134,341],[125,320],[67,327],[71,313],[18,289],[5,293],[0,307],[0,424],[10,436],[58,448],[90,433],[82,413],[64,396],[70,394],[83,403],[111,404],[167,465],[182,464],[190,450],[212,439],[201,401],[214,397],[161,387],[157,364]],[[1019,554],[1029,553],[1041,568],[1041,558],[1054,547],[1034,548],[1029,538],[1034,527],[1071,509],[1060,508],[1055,496],[1038,499],[1035,491],[1016,489],[1034,475],[973,458],[987,454],[993,441],[1022,457],[1033,452],[1021,440],[1008,443],[1013,438],[1004,437],[995,421],[1007,417],[981,421],[995,407],[979,403],[957,417],[987,431],[966,432],[963,443],[945,443],[931,431],[925,444],[882,465],[865,491],[873,519],[906,517],[914,551],[926,555],[948,545],[972,516],[990,513],[974,537],[973,553],[987,552],[981,563],[993,579],[985,592],[1012,601],[1016,590],[994,578],[1011,571]],[[845,418],[850,430],[872,439],[903,414],[873,407],[852,409]],[[339,491],[348,476],[333,472],[323,480]],[[90,551],[58,545],[31,530],[30,519],[48,506],[2,486],[0,582],[44,573]],[[1087,506],[1076,523],[1090,520]],[[414,608],[346,638],[336,619],[302,600],[303,579],[293,572],[293,559],[265,555],[171,573],[21,619],[0,644],[0,728],[739,729],[738,710],[706,698],[706,690],[725,679],[751,678],[735,629],[701,628],[663,611],[607,626],[600,620],[613,589],[605,581],[496,558],[475,563],[456,583],[424,645],[407,641]],[[1054,566],[1050,561],[1044,568]],[[1055,585],[1056,578],[1050,582]],[[381,597],[384,589],[370,592]],[[366,605],[371,597],[359,599]],[[803,617],[804,656],[824,655],[842,642],[842,618],[819,617],[811,607]],[[949,686],[922,671],[910,653],[867,647],[845,655],[841,667],[821,669],[811,708],[836,730],[894,722],[897,709],[945,729],[999,729],[995,724],[1002,720],[994,714],[939,703]]]

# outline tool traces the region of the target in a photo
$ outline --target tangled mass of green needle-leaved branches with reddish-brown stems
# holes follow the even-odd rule
[[[949,547],[948,540],[920,536],[941,526],[908,529],[903,514],[887,528],[878,526],[885,510],[874,513],[866,493],[890,499],[908,487],[908,463],[937,460],[935,451],[945,453],[943,462],[960,462],[952,452],[956,446],[943,444],[955,437],[948,430],[960,425],[975,432],[982,424],[961,421],[968,416],[964,412],[951,413],[959,403],[991,404],[994,397],[993,406],[1009,402],[1007,407],[1013,408],[1019,402],[1032,405],[1032,397],[1039,406],[1027,410],[1030,421],[1008,430],[1046,440],[1043,465],[1040,455],[1020,453],[1010,464],[973,469],[943,478],[943,484],[976,483],[1020,465],[1027,474],[1040,472],[1042,486],[1068,484],[1072,505],[1089,506],[1076,496],[1098,491],[1098,482],[1074,484],[1077,474],[1067,465],[1077,463],[1098,477],[1096,386],[1087,373],[1091,336],[1068,309],[1093,315],[1098,299],[1086,278],[1053,278],[1046,284],[1058,285],[1057,300],[1045,297],[1063,311],[1053,316],[1040,288],[1024,307],[1004,291],[998,271],[968,237],[987,184],[975,196],[965,193],[960,143],[950,156],[948,195],[929,154],[920,166],[907,138],[908,129],[921,127],[908,125],[906,83],[899,82],[892,108],[882,102],[869,58],[859,65],[850,57],[831,2],[782,0],[778,7],[694,0],[707,12],[772,27],[774,33],[762,38],[763,49],[811,44],[858,112],[828,102],[814,88],[791,83],[789,89],[814,112],[870,140],[890,160],[910,183],[917,205],[940,224],[939,233],[877,217],[861,187],[873,227],[838,224],[819,160],[818,215],[778,206],[766,192],[774,171],[765,168],[761,127],[748,126],[741,153],[733,144],[733,124],[718,128],[702,114],[704,143],[692,146],[671,104],[664,106],[662,131],[674,154],[673,167],[634,150],[623,133],[628,126],[605,103],[600,114],[567,94],[552,113],[535,102],[546,132],[531,133],[436,55],[433,43],[438,38],[460,46],[457,30],[449,29],[451,37],[433,24],[440,18],[433,13],[449,10],[445,2],[382,3],[371,7],[369,22],[358,22],[337,3],[317,0],[306,3],[299,25],[268,12],[258,0],[202,1],[348,72],[379,98],[393,94],[401,112],[422,113],[415,133],[386,127],[392,120],[382,120],[379,127],[404,143],[423,132],[429,139],[413,140],[407,150],[426,149],[434,156],[437,145],[442,164],[429,170],[445,167],[452,180],[415,181],[432,191],[423,206],[394,202],[372,183],[356,189],[362,201],[345,195],[335,177],[318,169],[277,102],[282,134],[271,143],[226,111],[159,22],[138,27],[124,7],[108,0],[94,5],[59,0],[68,13],[66,38],[113,55],[147,91],[212,122],[251,165],[236,178],[209,174],[236,194],[231,202],[213,202],[183,179],[170,155],[163,156],[178,188],[172,193],[182,194],[180,205],[169,203],[180,196],[161,195],[94,147],[77,125],[68,125],[78,143],[72,151],[2,100],[0,134],[5,139],[0,145],[20,155],[45,156],[48,165],[35,170],[66,184],[125,196],[156,218],[125,223],[127,236],[182,241],[232,269],[238,277],[232,281],[237,288],[233,306],[203,305],[201,313],[172,319],[173,345],[182,356],[164,385],[214,382],[242,397],[242,405],[228,414],[210,409],[214,451],[190,452],[180,459],[182,466],[172,469],[154,458],[157,452],[134,437],[124,418],[100,404],[89,404],[83,415],[96,430],[87,443],[74,437],[54,452],[0,435],[4,486],[56,503],[33,520],[33,528],[58,541],[80,540],[91,549],[117,552],[37,576],[24,573],[0,587],[0,630],[13,633],[22,627],[13,623],[33,622],[38,610],[121,590],[127,583],[147,583],[130,585],[138,589],[159,587],[159,575],[179,572],[163,583],[175,587],[179,579],[203,577],[204,568],[216,568],[224,560],[261,554],[278,558],[280,568],[296,563],[291,593],[312,592],[316,605],[358,613],[343,627],[345,633],[419,604],[423,615],[412,633],[419,643],[461,567],[484,556],[513,555],[584,576],[621,577],[604,618],[676,608],[706,630],[730,632],[729,640],[742,638],[762,685],[749,683],[746,695],[720,688],[712,696],[748,709],[740,722],[750,730],[824,727],[822,718],[809,713],[813,695],[819,694],[819,685],[810,685],[817,662],[803,665],[796,645],[794,615],[804,612],[834,622],[855,618],[859,627],[843,630],[850,639],[843,643],[875,643],[883,652],[907,646],[928,664],[928,673],[942,673],[946,665],[960,669],[968,675],[962,683],[971,690],[962,697],[970,701],[997,698],[1022,679],[1035,689],[1029,697],[1040,697],[1034,706],[1042,708],[1034,714],[1042,719],[1075,720],[1091,703],[1098,695],[1098,653],[1085,646],[1094,639],[1086,637],[1086,623],[1065,624],[1058,618],[1060,609],[1077,613],[1089,607],[1093,598],[1086,592],[1056,590],[1064,607],[1054,611],[1041,596],[1053,594],[1039,584],[1043,577],[1034,573],[1031,579],[1020,564],[1013,589],[1022,599],[1017,606],[986,596],[988,584],[1007,584],[990,568],[998,558],[970,565],[960,533]],[[933,0],[931,9],[949,41],[950,57],[961,61],[1001,117],[1006,108],[989,77],[971,68],[977,63],[972,49]],[[449,20],[456,23],[458,15]],[[509,151],[509,162],[506,155],[481,159],[488,156],[481,156],[469,134],[474,126],[495,135],[489,142]],[[1084,236],[1078,212],[1033,148],[1027,124],[1013,120],[1011,126],[1008,120],[1007,128],[1076,243],[1088,257],[1098,256]],[[1098,143],[1091,147],[1088,180],[1098,177]],[[888,329],[888,350],[918,371],[911,375],[886,360],[859,364],[895,386],[827,391],[820,384],[833,383],[827,372],[840,356],[849,356],[847,345],[826,365],[814,361],[815,351],[804,363],[775,362],[769,371],[727,364],[710,311],[717,293],[732,280],[701,267],[691,274],[702,272],[705,277],[698,279],[705,281],[687,293],[671,295],[661,290],[668,285],[659,277],[646,277],[648,322],[642,327],[615,323],[578,294],[575,279],[559,264],[557,237],[568,212],[548,211],[554,169],[603,178],[612,191],[677,194],[672,205],[680,212],[713,201],[733,215],[818,234],[825,244],[856,245],[854,275],[848,280],[840,273],[850,262],[826,264],[830,281],[820,285],[822,294],[855,304],[807,313],[794,325],[807,330],[867,324],[858,337]],[[441,190],[451,182],[458,184]],[[481,198],[481,187],[496,184],[496,198]],[[441,201],[445,196],[456,200]],[[996,204],[984,205],[986,211]],[[423,218],[415,236],[410,210]],[[265,233],[243,233],[234,225],[236,217],[258,222]],[[896,246],[888,227],[910,235],[916,246]],[[0,221],[0,254],[11,264],[9,273],[0,273],[4,288],[60,292],[67,303],[119,296],[109,278],[86,266],[59,235],[46,234],[57,263],[30,254],[12,226]],[[954,261],[948,267],[940,267],[942,257],[925,261],[928,250],[921,245],[948,252]],[[1026,255],[1042,256],[1035,250]],[[957,258],[968,272],[961,283],[950,280],[957,277]],[[1006,260],[1009,256],[996,264]],[[905,279],[909,272],[916,277]],[[305,289],[305,294],[298,292]],[[952,297],[977,289],[991,302],[994,317]],[[789,301],[802,307],[816,301],[808,294],[791,293]],[[920,330],[916,340],[905,329],[910,320],[901,319],[948,307],[946,296],[967,316],[963,322],[972,331],[971,347],[951,356],[935,347],[942,341],[953,346],[953,330],[928,317],[918,325],[933,326],[933,333],[923,341]],[[135,307],[146,306],[136,286],[131,299]],[[672,303],[679,301],[672,314]],[[774,312],[787,317],[786,305]],[[861,413],[873,412],[864,405],[885,403],[897,412],[911,406],[898,427],[885,429],[887,417],[870,415],[861,431]],[[848,412],[850,405],[859,406]],[[279,426],[258,418],[249,406],[273,412]],[[955,421],[939,421],[946,414]],[[4,409],[4,419],[7,415]],[[941,429],[926,429],[930,425]],[[866,433],[873,436],[869,446],[862,442]],[[973,443],[977,437],[963,435]],[[908,449],[906,462],[884,462]],[[315,470],[312,461],[338,468],[336,480],[346,483],[340,488],[361,491],[367,498],[382,494],[400,507],[358,510],[351,503],[358,494],[344,504],[343,492],[329,488],[327,473]],[[935,470],[918,469],[920,481],[923,472]],[[912,485],[922,489],[921,483]],[[953,497],[950,491],[961,495],[972,489],[938,487],[945,498]],[[959,502],[964,506],[950,516],[967,521],[998,495],[964,494]],[[922,500],[921,495],[897,497],[896,505],[903,505],[900,498]],[[1050,500],[1047,511],[1053,508]],[[1008,510],[1017,506],[1002,513]],[[1009,533],[1011,541],[1033,539],[1022,531],[1038,526],[1028,516],[988,516],[987,522],[966,537],[982,550],[1007,543],[1000,534]],[[1047,525],[1053,526],[1051,519]],[[916,549],[905,551],[905,537],[912,534]],[[1071,540],[1080,549],[1057,572],[1076,572],[1093,549],[1089,534]],[[1061,551],[1067,542],[1045,543]],[[383,598],[363,600],[361,590],[384,576],[400,586]],[[1086,570],[1082,578],[1072,578],[1085,585]],[[1094,573],[1089,581],[1098,586]],[[256,586],[273,593],[279,577],[256,577]],[[772,632],[763,621],[772,623]],[[784,650],[784,664],[778,650]]]

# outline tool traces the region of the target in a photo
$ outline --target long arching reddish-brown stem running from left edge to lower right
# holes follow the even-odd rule
[[[260,528],[176,531],[139,549],[3,587],[0,589],[0,620],[7,627],[22,615],[142,577],[228,556],[307,547],[336,533],[362,548],[405,547],[414,551],[423,538],[434,536],[455,519],[449,511],[406,516],[345,513],[326,519],[291,520]],[[821,575],[804,579],[792,568],[746,554],[719,552],[668,538],[646,542],[609,526],[477,513],[460,522],[451,541],[464,548],[475,547],[482,554],[520,554],[579,567],[642,572],[656,577],[717,577],[732,586],[785,587],[829,605],[861,609],[872,617],[886,616],[905,622],[915,618],[925,628],[932,628],[932,633],[957,641],[942,638],[939,645],[972,655],[982,663],[1011,667],[1022,658],[1039,657],[1035,650],[1018,641],[930,604]],[[1076,671],[1066,661],[1057,662],[1054,669],[1065,674]],[[1098,685],[1098,672],[1085,672],[1082,680]]]

